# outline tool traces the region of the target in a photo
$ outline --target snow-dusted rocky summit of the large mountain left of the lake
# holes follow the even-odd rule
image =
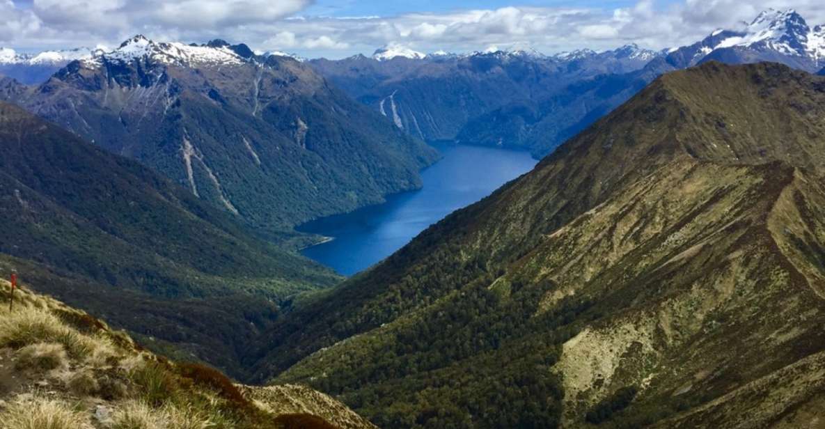
[[[130,63],[137,59],[152,59],[163,64],[242,64],[244,59],[223,40],[213,40],[208,45],[185,45],[178,42],[154,42],[144,35],[125,40],[111,52],[95,55],[90,65],[102,60]]]

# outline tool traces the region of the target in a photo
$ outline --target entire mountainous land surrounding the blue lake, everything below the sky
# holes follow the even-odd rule
[[[818,427],[821,35],[767,11],[665,51],[337,61],[137,35],[0,78],[26,286],[0,426],[48,395],[94,427]],[[351,278],[295,252],[420,186],[433,139],[546,156]]]

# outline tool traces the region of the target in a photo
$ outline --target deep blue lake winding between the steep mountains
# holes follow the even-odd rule
[[[530,171],[536,163],[528,152],[464,144],[433,146],[444,158],[422,172],[421,190],[301,225],[299,231],[334,238],[301,253],[351,276],[389,257],[447,214]]]

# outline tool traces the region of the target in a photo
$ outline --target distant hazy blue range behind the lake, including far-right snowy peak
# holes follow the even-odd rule
[[[534,50],[422,54],[393,45],[372,58],[311,61],[352,97],[427,140],[529,148],[536,157],[626,101],[653,78],[715,59],[774,61],[816,73],[825,65],[823,26],[793,10],[762,12],[741,29],[693,45],[544,55]]]

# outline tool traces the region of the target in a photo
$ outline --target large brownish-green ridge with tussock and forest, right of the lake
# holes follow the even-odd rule
[[[783,65],[669,73],[290,314],[258,368],[386,427],[813,424],[823,117]]]

